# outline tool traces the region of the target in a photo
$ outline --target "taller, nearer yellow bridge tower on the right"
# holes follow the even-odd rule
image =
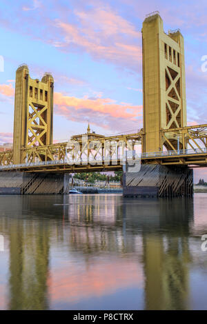
[[[165,146],[183,147],[172,129],[186,126],[184,37],[179,30],[164,32],[159,12],[149,14],[142,28],[144,140],[142,152],[159,152]],[[163,136],[161,130],[170,130]]]

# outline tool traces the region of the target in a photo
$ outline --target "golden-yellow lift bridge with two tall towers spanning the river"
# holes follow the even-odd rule
[[[0,152],[0,188],[5,172],[28,174],[30,183],[37,174],[123,169],[126,196],[192,196],[192,168],[207,166],[207,124],[187,125],[184,37],[180,30],[166,34],[159,12],[146,17],[141,32],[144,121],[134,134],[103,136],[88,126],[70,143],[54,144],[54,79],[32,79],[26,64],[17,69],[13,148]],[[128,172],[123,161],[137,144],[141,170]],[[27,193],[22,185],[21,192]]]

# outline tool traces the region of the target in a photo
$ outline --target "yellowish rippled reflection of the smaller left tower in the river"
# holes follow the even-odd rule
[[[8,197],[10,199],[10,197]],[[10,221],[10,278],[9,310],[48,309],[48,221],[35,221],[31,214],[28,197],[12,197],[12,205],[5,201],[3,210],[12,212]],[[37,201],[36,201],[37,202]],[[14,210],[12,210],[14,206]],[[21,215],[24,214],[22,219]]]

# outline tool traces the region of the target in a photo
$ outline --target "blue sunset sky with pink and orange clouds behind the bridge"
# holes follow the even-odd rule
[[[206,0],[1,0],[0,144],[12,141],[21,63],[32,78],[55,79],[55,140],[85,132],[88,121],[101,134],[141,128],[141,26],[155,10],[166,32],[184,35],[188,123],[207,123]]]

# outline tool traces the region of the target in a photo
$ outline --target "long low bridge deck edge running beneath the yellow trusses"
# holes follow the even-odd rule
[[[172,150],[166,152],[148,152],[138,156],[143,164],[160,164],[160,165],[189,165],[193,167],[207,166],[206,148],[190,150]],[[85,162],[86,163],[86,162]],[[69,164],[66,159],[55,161],[41,161],[34,163],[21,163],[18,165],[0,166],[0,171],[14,170],[25,172],[90,172],[90,171],[112,171],[121,170],[124,160],[117,156],[117,159],[108,159],[104,162],[97,159],[89,161],[86,164]]]

